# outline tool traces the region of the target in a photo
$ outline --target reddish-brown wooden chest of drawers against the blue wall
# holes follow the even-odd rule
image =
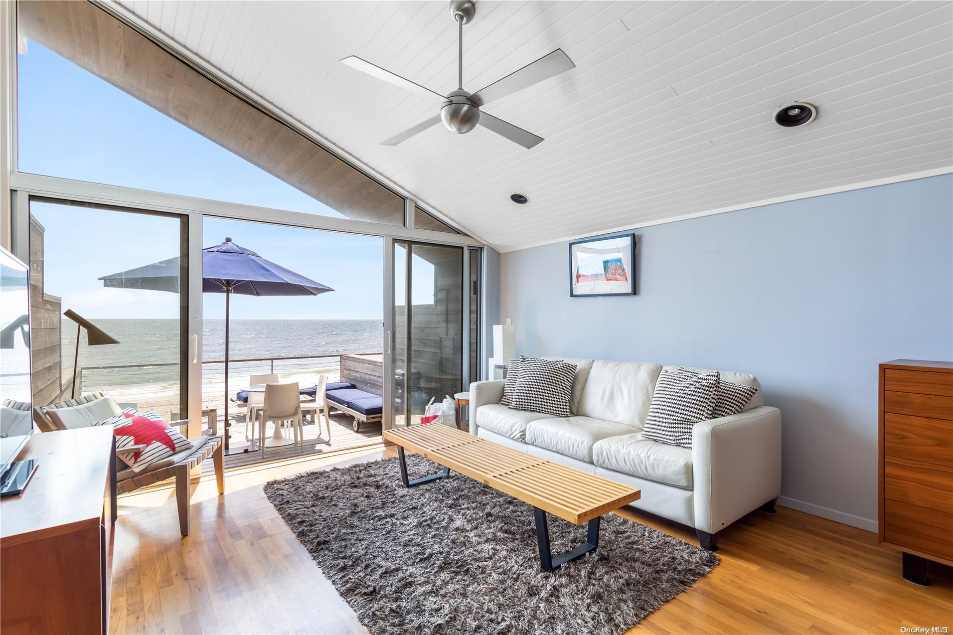
[[[929,584],[927,559],[953,565],[953,362],[881,364],[879,461],[880,542]]]

